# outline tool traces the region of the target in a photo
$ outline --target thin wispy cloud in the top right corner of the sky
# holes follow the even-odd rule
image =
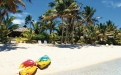
[[[102,0],[102,3],[107,5],[108,7],[121,7],[121,1],[114,0]]]

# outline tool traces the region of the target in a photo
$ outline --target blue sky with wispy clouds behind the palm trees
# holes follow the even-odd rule
[[[24,25],[25,17],[31,15],[33,20],[37,21],[38,17],[45,13],[49,2],[54,0],[32,0],[32,3],[25,2],[26,9],[22,6],[23,13],[10,14],[11,16],[16,16],[13,23]],[[96,9],[93,17],[103,17],[98,19],[100,23],[106,23],[106,21],[111,20],[116,26],[121,27],[121,0],[76,0],[77,2],[82,2],[83,7],[91,6]]]

